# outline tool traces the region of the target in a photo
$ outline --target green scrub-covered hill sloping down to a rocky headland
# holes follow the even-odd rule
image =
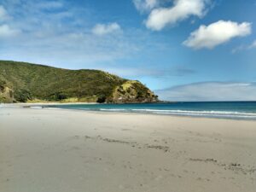
[[[139,81],[99,70],[0,61],[0,102],[157,102]]]

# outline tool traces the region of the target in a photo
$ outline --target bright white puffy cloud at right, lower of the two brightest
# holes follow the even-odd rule
[[[247,22],[239,24],[230,20],[218,20],[218,22],[209,26],[200,26],[195,32],[191,32],[190,37],[183,44],[194,49],[212,49],[230,41],[231,38],[251,34],[251,28],[251,23]]]

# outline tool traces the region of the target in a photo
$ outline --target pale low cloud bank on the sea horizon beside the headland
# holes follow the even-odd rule
[[[166,101],[255,101],[256,83],[201,82],[155,92]]]

